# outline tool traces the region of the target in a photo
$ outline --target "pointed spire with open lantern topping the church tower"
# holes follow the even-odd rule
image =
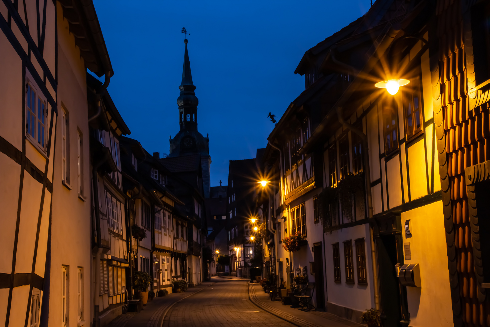
[[[196,86],[192,82],[191,62],[187,51],[187,38],[184,40],[184,67],[182,68],[182,83],[179,86],[180,96],[177,98],[179,105],[180,130],[197,130],[197,104]]]

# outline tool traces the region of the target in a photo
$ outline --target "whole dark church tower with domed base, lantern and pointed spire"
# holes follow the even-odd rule
[[[205,198],[209,198],[210,165],[209,138],[202,136],[197,131],[197,104],[196,86],[192,81],[191,63],[187,51],[187,38],[184,40],[184,67],[182,68],[182,82],[180,83],[180,96],[177,98],[179,106],[180,130],[175,137],[170,139],[170,154],[172,157],[183,157],[187,155],[200,155],[200,168],[202,172],[202,186]]]

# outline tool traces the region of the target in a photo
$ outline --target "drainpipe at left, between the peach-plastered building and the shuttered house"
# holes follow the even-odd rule
[[[94,185],[94,204],[95,204],[95,226],[97,232],[97,253],[95,255],[95,289],[94,289],[94,326],[99,326],[99,294],[100,294],[100,256],[102,254],[102,235],[100,231],[100,212],[98,203],[98,178],[97,171],[98,168],[109,159],[108,152],[105,153],[104,157],[100,159],[92,168],[92,178]]]

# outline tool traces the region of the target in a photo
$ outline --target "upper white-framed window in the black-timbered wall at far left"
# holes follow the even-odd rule
[[[46,97],[26,72],[25,131],[27,139],[43,154],[48,149],[48,107]]]

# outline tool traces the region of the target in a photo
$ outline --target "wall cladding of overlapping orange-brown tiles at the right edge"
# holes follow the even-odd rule
[[[439,44],[430,48],[431,75],[454,325],[490,327],[489,299],[481,288],[478,295],[478,245],[465,184],[465,168],[490,160],[489,92],[468,94],[475,80],[465,11],[471,2],[476,1],[438,1],[431,41]]]

